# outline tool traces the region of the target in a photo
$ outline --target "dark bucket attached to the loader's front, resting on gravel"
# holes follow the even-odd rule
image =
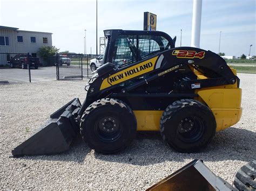
[[[12,150],[14,157],[53,154],[69,150],[72,139],[79,133],[76,122],[81,107],[78,98],[54,112],[28,140]]]

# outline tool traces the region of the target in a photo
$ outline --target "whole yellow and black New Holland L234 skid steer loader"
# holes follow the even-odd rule
[[[104,65],[86,84],[86,99],[64,105],[21,145],[14,156],[69,149],[79,133],[90,148],[114,153],[136,131],[160,131],[179,152],[198,151],[241,117],[241,89],[219,55],[175,47],[160,31],[105,30]]]

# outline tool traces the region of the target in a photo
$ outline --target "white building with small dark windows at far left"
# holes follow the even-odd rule
[[[0,26],[0,65],[8,64],[10,57],[15,54],[29,53],[33,57],[38,57],[38,49],[42,46],[52,46],[52,33],[22,31],[15,27]]]

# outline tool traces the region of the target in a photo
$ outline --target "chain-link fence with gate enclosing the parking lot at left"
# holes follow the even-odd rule
[[[102,65],[102,55],[56,54],[41,63],[28,53],[0,53],[0,84],[83,80]]]

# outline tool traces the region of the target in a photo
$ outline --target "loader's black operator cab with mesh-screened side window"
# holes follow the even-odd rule
[[[103,63],[121,68],[167,49],[174,48],[175,40],[160,31],[105,30],[107,46]]]

